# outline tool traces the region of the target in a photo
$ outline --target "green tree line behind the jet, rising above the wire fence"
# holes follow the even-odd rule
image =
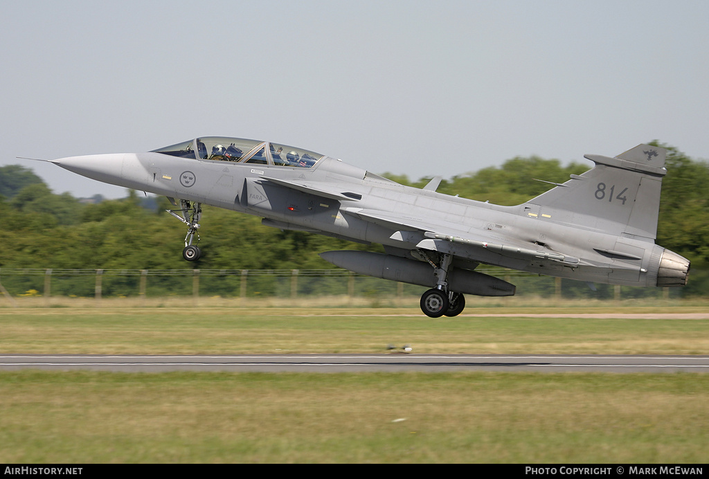
[[[687,293],[709,292],[709,164],[669,149],[662,184],[657,243],[692,261]],[[454,176],[438,191],[478,201],[515,205],[547,191],[542,179],[563,183],[590,164],[562,165],[557,159],[515,157],[501,167]],[[401,184],[423,187],[430,180],[384,174]],[[329,249],[380,251],[306,232],[262,226],[260,218],[203,206],[203,258],[182,259],[186,227],[164,212],[166,198],[128,191],[126,198],[86,202],[55,194],[18,165],[0,168],[0,208],[4,212],[1,268],[52,269],[329,269],[318,257]],[[152,202],[152,203],[151,203]]]

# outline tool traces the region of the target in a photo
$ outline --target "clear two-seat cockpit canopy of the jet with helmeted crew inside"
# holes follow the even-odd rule
[[[325,156],[277,143],[216,136],[199,137],[152,151],[180,158],[299,168],[312,168]]]

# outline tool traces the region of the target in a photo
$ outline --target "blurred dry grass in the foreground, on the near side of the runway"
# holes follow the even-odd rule
[[[0,378],[0,463],[708,459],[706,374],[27,371]]]

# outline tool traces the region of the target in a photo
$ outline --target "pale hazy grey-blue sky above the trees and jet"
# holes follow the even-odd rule
[[[197,136],[445,178],[660,140],[709,158],[709,2],[3,1],[0,166]],[[589,163],[590,164],[590,163]]]

